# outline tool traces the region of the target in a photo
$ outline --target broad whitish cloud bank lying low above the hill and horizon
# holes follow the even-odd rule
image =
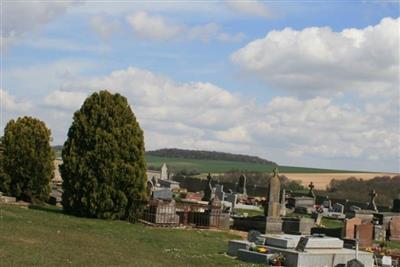
[[[391,115],[378,112],[369,102],[349,105],[331,97],[274,97],[257,104],[211,83],[179,83],[133,67],[63,88],[75,90],[71,99],[77,92],[83,98],[104,88],[125,95],[145,130],[147,149],[223,150],[278,162],[357,159],[391,162],[394,169],[400,148]],[[76,109],[70,108],[71,113]]]

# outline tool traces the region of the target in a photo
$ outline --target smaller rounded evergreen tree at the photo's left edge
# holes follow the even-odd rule
[[[24,201],[48,199],[54,175],[50,139],[50,130],[38,119],[23,117],[7,123],[2,140],[4,175],[0,182],[6,193]]]

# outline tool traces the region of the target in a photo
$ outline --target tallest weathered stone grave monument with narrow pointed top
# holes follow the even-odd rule
[[[273,176],[269,181],[268,202],[266,205],[266,224],[265,233],[281,233],[282,220],[280,218],[281,203],[280,201],[281,182],[279,180],[278,168],[274,168]]]

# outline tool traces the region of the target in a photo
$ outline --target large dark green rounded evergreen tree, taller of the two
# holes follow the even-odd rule
[[[143,131],[125,97],[89,96],[74,114],[62,159],[66,212],[135,220],[147,198],[146,163]]]

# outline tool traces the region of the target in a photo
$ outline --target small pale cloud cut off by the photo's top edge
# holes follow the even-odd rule
[[[271,12],[261,2],[256,0],[227,0],[226,4],[232,10],[249,16],[270,18]]]

